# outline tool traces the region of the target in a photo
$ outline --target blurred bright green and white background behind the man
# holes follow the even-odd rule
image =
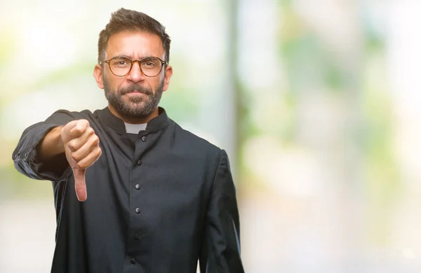
[[[421,1],[0,0],[0,272],[49,272],[48,181],[22,131],[106,106],[98,34],[120,7],[172,38],[161,106],[229,154],[249,273],[421,272]]]

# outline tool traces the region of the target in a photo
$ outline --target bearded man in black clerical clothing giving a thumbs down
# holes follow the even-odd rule
[[[51,272],[243,272],[227,153],[158,106],[170,38],[144,13],[119,9],[100,32],[94,77],[108,106],[56,111],[28,127],[15,167],[53,181]]]

